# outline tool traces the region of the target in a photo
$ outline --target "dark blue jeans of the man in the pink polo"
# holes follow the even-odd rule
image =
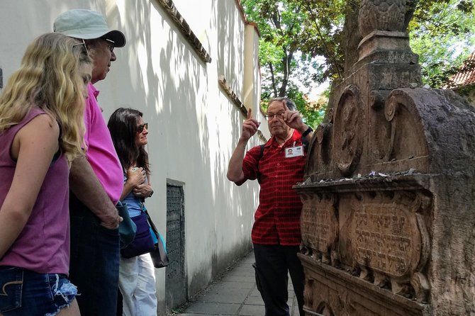
[[[116,316],[119,234],[69,192],[71,260],[69,278],[76,284],[81,315]]]

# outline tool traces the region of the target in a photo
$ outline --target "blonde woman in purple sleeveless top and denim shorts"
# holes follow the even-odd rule
[[[33,40],[0,96],[0,315],[79,315],[69,271],[69,164],[83,154],[91,60]]]

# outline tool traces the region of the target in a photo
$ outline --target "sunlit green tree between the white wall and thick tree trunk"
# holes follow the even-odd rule
[[[302,43],[316,36],[308,33],[313,30],[307,27],[308,15],[303,7],[295,1],[277,0],[245,0],[242,4],[248,19],[258,24],[262,35],[259,44],[262,104],[274,96],[289,96],[308,125],[320,123],[322,111],[308,106],[303,91],[322,77],[315,72],[324,71],[323,65],[316,64],[312,55],[302,49]]]

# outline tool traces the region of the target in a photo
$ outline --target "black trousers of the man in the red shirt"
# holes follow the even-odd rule
[[[303,286],[305,274],[297,257],[298,246],[279,244],[254,244],[256,259],[257,289],[264,300],[266,316],[289,316],[287,283],[290,274],[298,303],[298,312],[303,312]]]

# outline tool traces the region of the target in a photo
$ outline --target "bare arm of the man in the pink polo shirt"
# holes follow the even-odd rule
[[[69,188],[79,201],[101,220],[101,225],[109,229],[118,227],[121,217],[117,213],[116,205],[113,205],[104,191],[86,157],[79,157],[72,162]]]

